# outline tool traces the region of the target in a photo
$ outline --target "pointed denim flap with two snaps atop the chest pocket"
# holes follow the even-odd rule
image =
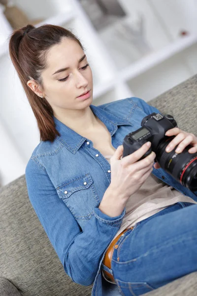
[[[93,183],[92,177],[90,174],[79,175],[69,181],[66,181],[56,189],[61,191],[63,198],[68,198],[73,192],[81,189],[87,189]]]

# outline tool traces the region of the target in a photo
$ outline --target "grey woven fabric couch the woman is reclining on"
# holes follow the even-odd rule
[[[148,103],[197,135],[197,75]],[[0,188],[0,295],[90,296],[91,290],[66,275],[29,201],[25,175]],[[144,295],[196,296],[197,272]]]

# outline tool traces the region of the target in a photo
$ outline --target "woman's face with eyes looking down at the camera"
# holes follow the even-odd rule
[[[66,37],[50,48],[46,56],[47,67],[42,72],[43,95],[51,105],[54,114],[68,110],[81,110],[92,104],[93,76],[81,46]],[[67,68],[67,70],[63,70]],[[61,70],[62,71],[59,71]],[[58,71],[58,73],[56,73]],[[61,81],[62,80],[62,81]],[[86,100],[77,99],[90,90]]]

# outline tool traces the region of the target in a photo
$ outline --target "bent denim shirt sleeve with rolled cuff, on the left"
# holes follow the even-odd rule
[[[82,231],[42,165],[31,158],[25,176],[30,202],[66,274],[75,283],[92,285],[101,256],[118,232],[126,209],[109,217],[94,208]]]

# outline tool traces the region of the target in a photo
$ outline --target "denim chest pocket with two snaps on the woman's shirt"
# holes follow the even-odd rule
[[[94,207],[100,203],[93,179],[89,173],[78,175],[56,186],[75,219],[87,220],[93,216]]]

